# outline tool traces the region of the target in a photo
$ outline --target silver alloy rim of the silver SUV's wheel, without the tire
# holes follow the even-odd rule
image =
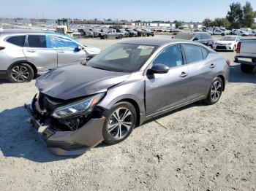
[[[11,71],[11,77],[16,82],[24,82],[29,79],[29,69],[26,66],[14,66]]]

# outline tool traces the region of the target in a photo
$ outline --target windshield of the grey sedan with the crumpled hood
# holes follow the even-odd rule
[[[86,66],[118,72],[138,71],[156,46],[142,44],[115,44],[92,58]]]

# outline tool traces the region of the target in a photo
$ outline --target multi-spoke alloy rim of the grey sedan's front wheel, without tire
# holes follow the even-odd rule
[[[108,120],[108,133],[115,139],[123,139],[132,127],[132,112],[121,107],[116,109]]]

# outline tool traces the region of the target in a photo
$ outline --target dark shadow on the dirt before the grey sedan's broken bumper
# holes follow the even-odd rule
[[[0,113],[0,151],[4,157],[23,157],[38,163],[65,160],[74,156],[53,155],[31,128],[23,106]]]

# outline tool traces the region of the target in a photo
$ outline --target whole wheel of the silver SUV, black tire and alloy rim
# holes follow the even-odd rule
[[[11,83],[30,82],[33,78],[34,70],[28,63],[17,63],[7,70],[7,81]]]

